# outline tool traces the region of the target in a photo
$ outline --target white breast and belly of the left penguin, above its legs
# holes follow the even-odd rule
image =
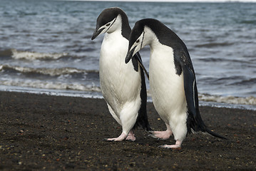
[[[106,33],[99,63],[101,91],[118,118],[127,102],[140,105],[140,71],[134,71],[131,61],[125,63],[127,51],[128,40],[121,33]]]

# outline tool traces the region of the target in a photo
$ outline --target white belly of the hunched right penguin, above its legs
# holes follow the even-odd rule
[[[150,93],[160,117],[171,125],[186,120],[183,73],[180,76],[176,74],[173,50],[163,45],[151,48],[149,71]]]

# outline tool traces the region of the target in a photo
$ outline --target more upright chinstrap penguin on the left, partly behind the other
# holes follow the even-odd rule
[[[109,112],[123,129],[118,138],[105,140],[134,141],[133,130],[136,127],[152,130],[146,112],[147,92],[140,54],[136,53],[130,63],[124,63],[130,31],[126,13],[113,7],[104,9],[98,16],[91,38],[93,40],[105,33],[99,60],[101,91]]]

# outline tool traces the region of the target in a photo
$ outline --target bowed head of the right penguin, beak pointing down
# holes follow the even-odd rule
[[[153,38],[156,37],[150,26],[148,26],[148,20],[150,22],[150,19],[137,21],[130,32],[126,63],[130,61],[130,58],[132,58],[135,53],[144,48],[144,46],[150,44]]]

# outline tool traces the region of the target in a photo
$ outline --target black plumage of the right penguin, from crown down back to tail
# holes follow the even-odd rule
[[[191,133],[192,129],[194,131],[207,132],[217,138],[223,138],[222,136],[217,135],[216,133],[213,133],[213,131],[209,130],[201,118],[198,105],[198,88],[196,86],[193,64],[188,53],[188,48],[185,46],[185,43],[177,36],[177,34],[175,34],[172,30],[170,30],[170,28],[158,20],[143,19],[137,21],[133,27],[132,33],[130,34],[129,48],[133,45],[141,33],[143,33],[145,26],[148,26],[148,28],[150,28],[155,33],[155,36],[157,36],[158,41],[161,44],[173,48],[176,74],[180,76],[180,74],[183,73],[184,77],[185,97],[188,107],[188,133]]]

